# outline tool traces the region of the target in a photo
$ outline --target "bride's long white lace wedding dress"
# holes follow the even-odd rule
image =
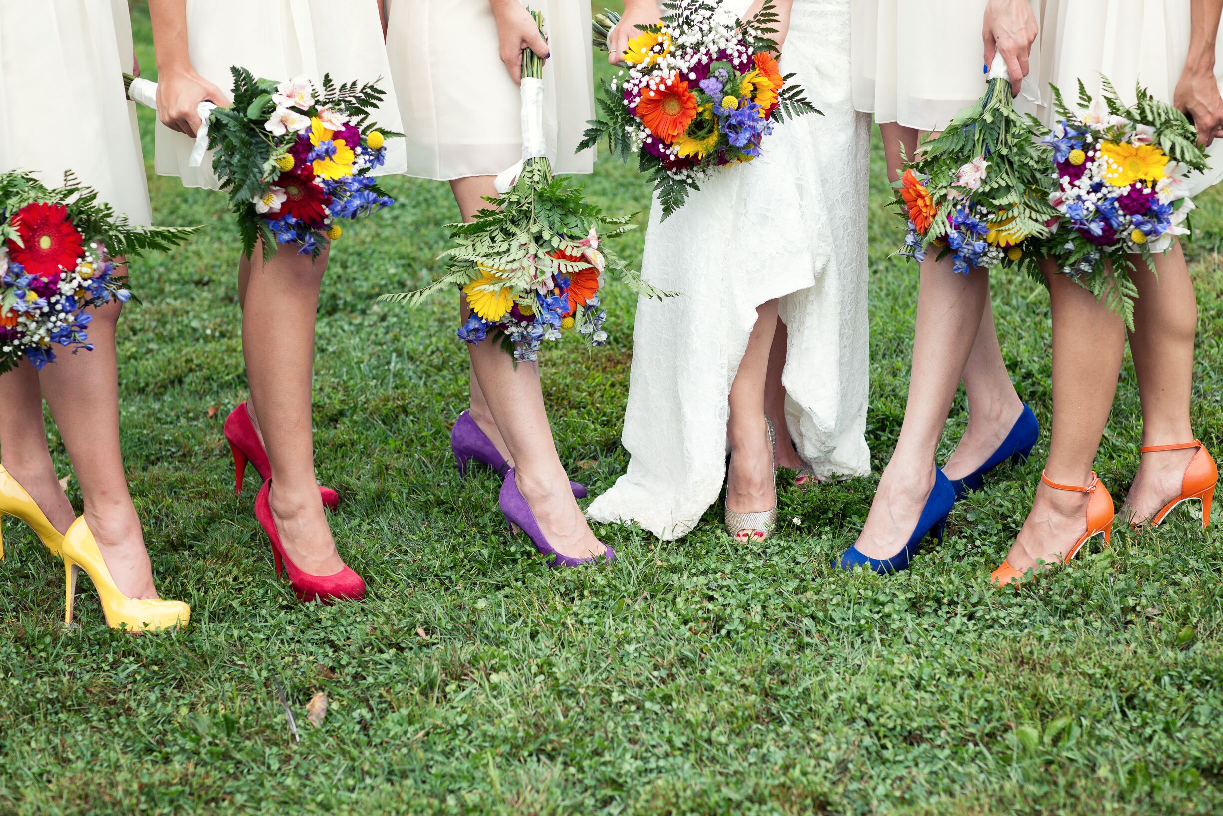
[[[794,0],[781,72],[796,72],[824,115],[779,125],[762,158],[717,174],[665,221],[654,204],[643,274],[684,294],[637,306],[623,436],[632,459],[589,505],[594,521],[679,538],[718,499],[730,384],[756,307],[774,297],[799,454],[818,477],[870,471],[870,117],[854,110],[850,4]]]

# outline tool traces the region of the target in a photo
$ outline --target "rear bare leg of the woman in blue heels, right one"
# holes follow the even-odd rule
[[[948,478],[964,478],[985,465],[1024,412],[1024,402],[1002,358],[988,300],[972,354],[964,367],[964,390],[969,398],[969,427],[943,465]]]

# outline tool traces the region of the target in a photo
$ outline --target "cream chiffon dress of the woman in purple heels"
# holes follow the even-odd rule
[[[544,135],[558,172],[593,172],[575,155],[594,119],[591,4],[533,0],[552,59],[544,66]],[[390,0],[386,49],[407,138],[407,174],[453,181],[495,176],[522,158],[519,87],[501,62],[488,0]]]

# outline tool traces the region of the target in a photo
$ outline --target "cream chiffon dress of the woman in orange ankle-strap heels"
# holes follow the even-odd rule
[[[1077,104],[1080,80],[1098,97],[1101,76],[1126,103],[1134,103],[1139,83],[1172,102],[1189,56],[1189,0],[1044,0],[1043,6],[1041,77],[1062,91],[1066,104]],[[1223,38],[1214,75],[1223,88]],[[1041,116],[1052,124],[1052,105]],[[1190,195],[1223,179],[1223,139],[1214,141],[1210,154],[1211,170],[1190,177]]]

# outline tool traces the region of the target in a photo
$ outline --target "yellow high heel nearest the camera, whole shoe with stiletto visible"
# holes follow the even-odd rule
[[[98,541],[86,524],[84,517],[77,519],[64,536],[64,570],[67,584],[67,602],[64,623],[72,623],[72,602],[76,598],[76,579],[81,570],[89,574],[93,586],[98,590],[102,610],[106,614],[106,625],[111,629],[126,628],[128,631],[157,631],[159,629],[183,628],[191,620],[191,607],[182,601],[139,601],[128,598],[115,585],[110,575]]]

